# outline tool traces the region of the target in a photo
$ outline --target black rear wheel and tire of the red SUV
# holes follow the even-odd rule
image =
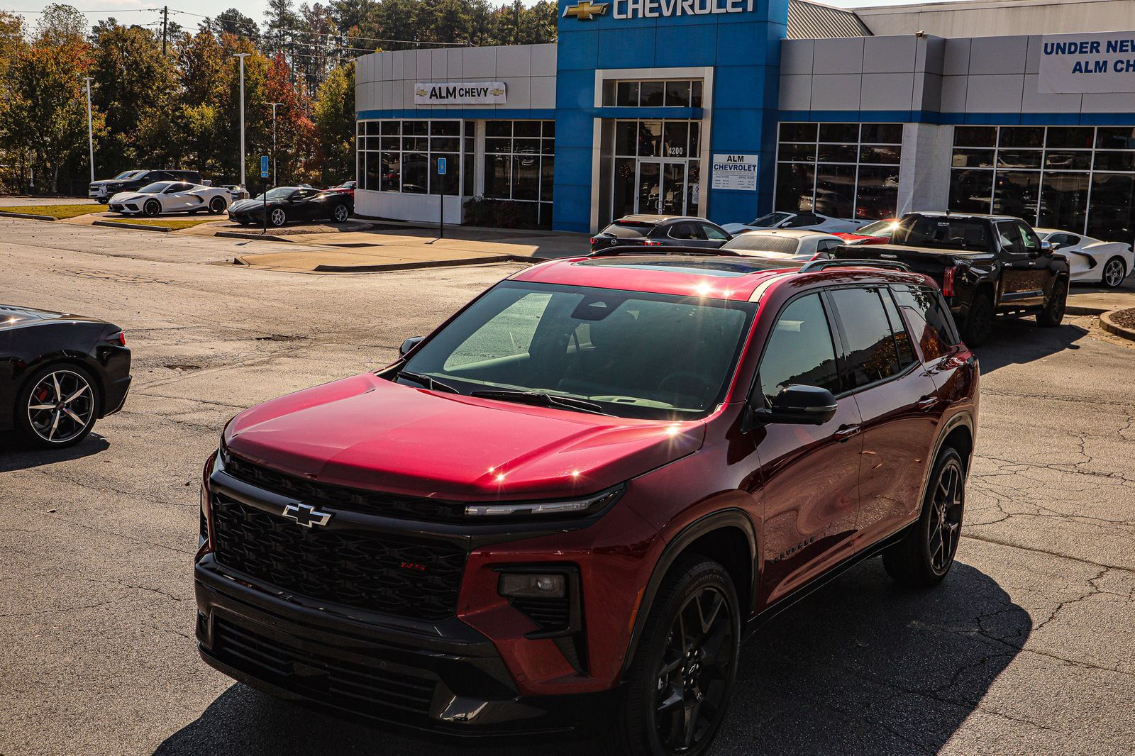
[[[911,588],[941,582],[958,553],[965,509],[966,465],[957,450],[945,446],[931,470],[918,521],[883,552],[886,574]]]

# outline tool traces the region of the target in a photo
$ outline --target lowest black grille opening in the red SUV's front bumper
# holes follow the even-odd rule
[[[306,698],[360,714],[427,715],[436,680],[313,654],[213,618],[212,654],[232,667]]]

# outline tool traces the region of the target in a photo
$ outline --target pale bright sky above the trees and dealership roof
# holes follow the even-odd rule
[[[61,0],[62,1],[62,0]],[[311,0],[313,1],[313,0]],[[497,1],[497,0],[494,0]],[[499,0],[503,2],[504,0]],[[532,5],[536,0],[523,0],[524,5]],[[890,6],[919,2],[920,0],[821,0],[829,5],[842,8],[855,8],[857,6]],[[23,12],[28,28],[35,28],[40,18],[37,11],[51,3],[51,0],[0,0],[0,10],[11,10]],[[68,5],[78,8],[91,19],[91,23],[104,18],[117,18],[120,24],[159,25],[161,22],[162,2],[153,0],[72,0]],[[299,0],[296,0],[299,5]],[[169,19],[176,20],[186,28],[196,28],[201,16],[216,16],[227,8],[237,8],[245,16],[251,17],[258,24],[263,24],[264,0],[171,0],[168,3]]]

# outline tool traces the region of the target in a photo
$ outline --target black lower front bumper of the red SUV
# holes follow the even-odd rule
[[[194,574],[202,658],[280,698],[457,737],[590,730],[596,712],[612,711],[613,691],[519,695],[494,644],[456,619],[419,635],[270,595],[211,555]]]

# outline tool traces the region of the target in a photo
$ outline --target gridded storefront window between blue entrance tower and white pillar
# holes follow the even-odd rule
[[[901,124],[782,123],[775,210],[882,219],[897,211]]]

